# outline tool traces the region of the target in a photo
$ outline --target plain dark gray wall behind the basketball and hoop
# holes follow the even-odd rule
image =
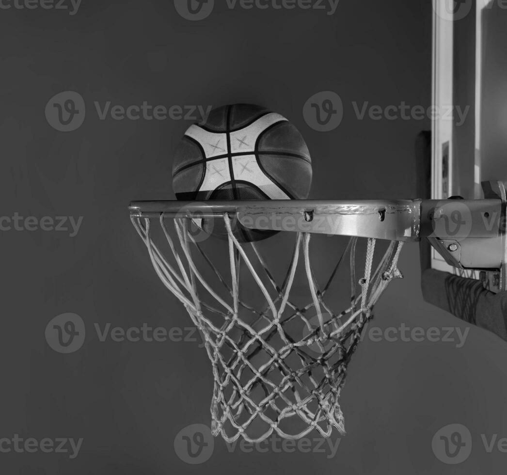
[[[218,3],[218,2],[217,2]],[[188,326],[130,225],[131,199],[172,199],[171,151],[186,121],[100,121],[113,104],[266,105],[304,135],[314,164],[312,197],[414,198],[414,142],[429,121],[358,121],[351,101],[430,103],[431,2],[341,0],[337,12],[236,10],[218,3],[189,22],[170,1],[87,2],[65,11],[0,11],[2,214],[84,216],[80,233],[3,232],[3,382],[0,437],[83,437],[79,456],[3,454],[6,474],[466,473],[504,472],[481,434],[507,436],[507,346],[472,327],[465,345],[365,340],[342,393],[347,436],[333,459],[319,453],[229,453],[189,465],[173,440],[209,424],[212,375],[196,343],[99,342],[93,323]],[[82,94],[87,117],[62,133],[44,116],[61,91]],[[302,108],[332,90],[341,126],[310,129]],[[466,323],[422,301],[417,245],[408,245],[375,326]],[[63,312],[85,320],[69,355],[44,338]],[[441,427],[461,423],[473,452],[461,465],[432,453]]]

